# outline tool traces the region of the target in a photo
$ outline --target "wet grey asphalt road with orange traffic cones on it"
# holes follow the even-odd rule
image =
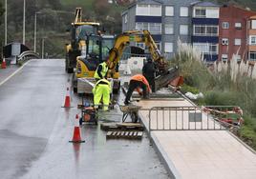
[[[106,140],[99,126],[84,125],[85,143],[68,142],[80,112],[73,93],[74,108],[61,108],[69,78],[63,60],[32,60],[0,86],[1,178],[168,178],[145,134],[141,141]],[[117,107],[99,116],[121,119]]]

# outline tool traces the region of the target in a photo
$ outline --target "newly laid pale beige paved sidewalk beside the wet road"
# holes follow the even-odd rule
[[[152,107],[193,106],[186,100],[140,101],[143,109]],[[170,124],[158,116],[164,129]],[[169,118],[175,112],[170,112]],[[176,113],[177,115],[177,113]],[[139,110],[142,123],[149,129],[149,111]],[[182,116],[183,118],[188,115]],[[152,117],[153,128],[156,117]],[[181,117],[178,117],[178,121]],[[185,119],[187,120],[187,119]],[[152,131],[153,144],[160,152],[174,178],[184,179],[255,179],[256,154],[228,130],[167,130]]]

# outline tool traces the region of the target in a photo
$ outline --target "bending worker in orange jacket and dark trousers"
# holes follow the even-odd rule
[[[130,80],[129,88],[124,100],[125,105],[128,105],[130,103],[129,101],[133,94],[134,89],[137,89],[137,91],[139,92],[139,95],[141,95],[140,89],[142,89],[143,98],[145,99],[149,98],[148,94],[149,92],[151,92],[151,89],[147,79],[142,74],[136,74],[132,76]]]

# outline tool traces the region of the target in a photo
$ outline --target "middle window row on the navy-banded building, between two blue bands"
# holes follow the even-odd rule
[[[194,35],[200,36],[218,36],[218,26],[208,26],[208,25],[195,25]]]

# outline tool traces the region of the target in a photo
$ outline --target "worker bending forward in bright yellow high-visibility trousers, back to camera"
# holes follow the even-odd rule
[[[110,92],[111,92],[111,84],[110,82],[103,78],[96,82],[96,85],[93,89],[94,94],[94,105],[97,109],[102,98],[103,102],[103,110],[108,110],[110,103]]]

